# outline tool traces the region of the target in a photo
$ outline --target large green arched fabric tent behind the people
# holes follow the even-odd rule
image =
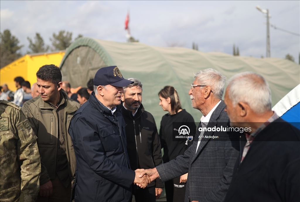
[[[232,56],[220,52],[204,53],[184,47],[155,47],[120,43],[94,38],[79,38],[67,48],[60,69],[71,87],[86,87],[98,69],[116,65],[125,78],[143,83],[143,105],[152,113],[159,127],[166,114],[158,105],[158,92],[166,85],[176,88],[184,109],[199,121],[202,114],[191,107],[190,84],[194,73],[206,68],[223,72],[227,79],[239,72],[252,71],[269,83],[272,106],[300,83],[299,65],[280,58]]]

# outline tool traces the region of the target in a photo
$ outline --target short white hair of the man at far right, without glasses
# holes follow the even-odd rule
[[[271,110],[270,86],[261,75],[254,72],[239,73],[229,79],[228,88],[233,106],[244,102],[258,114]]]

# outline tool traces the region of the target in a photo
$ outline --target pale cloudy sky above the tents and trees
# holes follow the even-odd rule
[[[27,37],[39,32],[50,45],[59,30],[126,41],[124,21],[130,11],[131,35],[153,46],[192,47],[199,51],[261,57],[266,52],[266,18],[255,7],[269,9],[270,23],[300,32],[300,1],[0,1],[0,30],[10,29],[28,50]],[[300,37],[270,27],[271,57],[291,54],[298,63]]]

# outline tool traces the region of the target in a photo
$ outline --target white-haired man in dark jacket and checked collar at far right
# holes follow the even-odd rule
[[[240,155],[225,201],[300,201],[300,131],[271,110],[271,90],[253,72],[235,75],[225,111],[240,136]]]

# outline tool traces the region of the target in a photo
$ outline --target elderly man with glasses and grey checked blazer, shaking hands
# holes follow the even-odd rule
[[[193,145],[166,164],[144,170],[151,181],[163,182],[189,173],[184,201],[223,201],[238,156],[236,133],[223,131],[229,126],[222,100],[226,77],[214,69],[196,73],[189,91],[192,107],[202,112]],[[220,128],[223,130],[219,130]],[[140,175],[141,176],[141,175]]]

